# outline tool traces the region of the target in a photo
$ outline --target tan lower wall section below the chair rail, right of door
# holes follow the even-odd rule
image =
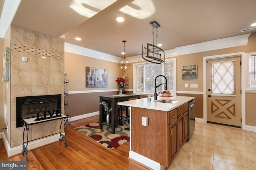
[[[245,95],[245,120],[246,125],[256,126],[256,93],[246,93]]]

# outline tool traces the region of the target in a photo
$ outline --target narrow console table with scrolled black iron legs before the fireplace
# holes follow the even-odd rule
[[[26,157],[27,161],[28,161],[28,156],[27,156],[27,153],[28,153],[28,142],[31,142],[31,141],[34,141],[34,140],[37,140],[37,139],[41,139],[41,138],[44,138],[44,137],[48,137],[48,136],[60,133],[60,139],[59,139],[60,143],[61,143],[61,141],[63,141],[64,146],[65,147],[67,146],[67,143],[65,142],[66,141],[66,129],[67,129],[66,123],[68,122],[68,116],[67,115],[61,115],[59,117],[52,117],[52,118],[49,118],[49,119],[43,119],[43,120],[39,120],[39,121],[35,121],[35,119],[36,119],[35,117],[34,118],[30,118],[30,119],[24,119],[23,123],[22,123],[22,126],[24,127],[24,130],[23,130],[23,145],[22,145],[23,149],[22,149],[22,155],[25,154],[25,157]],[[28,126],[29,125],[35,125],[35,124],[38,124],[38,123],[43,123],[43,122],[53,121],[53,120],[58,120],[58,119],[61,119],[60,132],[28,141],[28,130],[29,130]],[[61,131],[61,125],[62,125],[63,119],[64,119],[65,135],[63,135],[62,131]],[[26,139],[27,139],[26,141],[24,141],[25,130],[26,130]]]

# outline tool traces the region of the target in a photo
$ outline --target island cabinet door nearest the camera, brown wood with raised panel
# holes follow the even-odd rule
[[[178,153],[178,121],[177,119],[168,125],[168,166]]]

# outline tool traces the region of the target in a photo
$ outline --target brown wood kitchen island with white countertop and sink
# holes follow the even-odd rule
[[[170,166],[188,138],[188,102],[193,99],[158,96],[151,102],[147,98],[118,102],[130,108],[129,158],[154,170]]]

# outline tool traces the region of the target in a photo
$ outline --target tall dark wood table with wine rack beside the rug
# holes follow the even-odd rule
[[[140,99],[140,94],[123,94],[122,96],[120,95],[107,95],[107,96],[99,96],[100,97],[100,102],[107,102],[109,106],[111,106],[112,111],[111,111],[111,122],[110,124],[106,123],[106,114],[104,113],[104,107],[102,104],[100,104],[100,129],[102,129],[103,125],[107,125],[111,127],[111,133],[115,133],[116,127],[118,127],[118,102],[123,101],[123,100],[128,100],[132,98],[137,98]]]

